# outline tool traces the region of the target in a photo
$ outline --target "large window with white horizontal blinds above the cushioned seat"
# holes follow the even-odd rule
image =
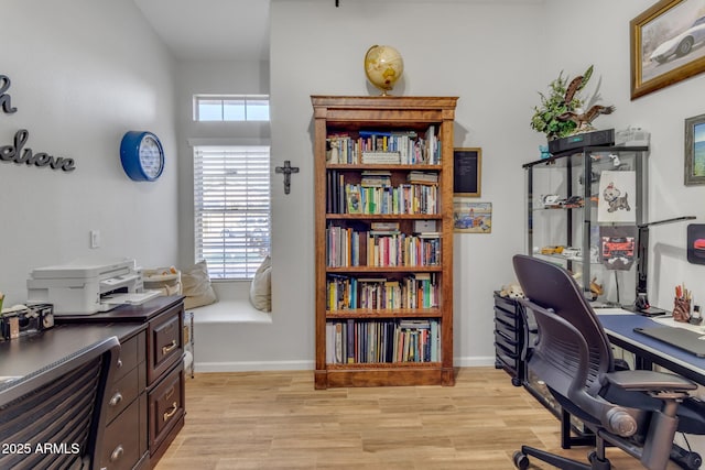
[[[194,147],[196,261],[212,278],[252,278],[270,252],[269,146]]]

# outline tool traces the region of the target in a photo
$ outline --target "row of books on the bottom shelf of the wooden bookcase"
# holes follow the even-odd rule
[[[441,321],[357,320],[326,324],[326,362],[333,364],[438,362]]]

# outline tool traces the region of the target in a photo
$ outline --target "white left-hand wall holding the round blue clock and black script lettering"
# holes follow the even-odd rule
[[[172,61],[131,1],[2,4],[0,74],[18,111],[0,113],[0,146],[19,129],[25,147],[74,159],[70,173],[0,162],[0,291],[26,299],[32,267],[85,255],[130,256],[143,266],[177,255]],[[166,167],[152,184],[120,165],[126,131],[150,130]],[[89,230],[101,247],[89,249]]]

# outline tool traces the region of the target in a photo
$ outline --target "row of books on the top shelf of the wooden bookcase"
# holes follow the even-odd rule
[[[441,142],[435,125],[425,135],[415,131],[360,131],[357,135],[332,133],[326,138],[330,164],[440,164]]]

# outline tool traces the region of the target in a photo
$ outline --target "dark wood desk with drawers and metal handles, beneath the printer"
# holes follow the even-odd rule
[[[0,342],[0,378],[22,376],[116,336],[119,370],[107,393],[100,467],[150,468],[184,425],[183,297],[158,297],[108,313],[57,316],[40,334]]]

